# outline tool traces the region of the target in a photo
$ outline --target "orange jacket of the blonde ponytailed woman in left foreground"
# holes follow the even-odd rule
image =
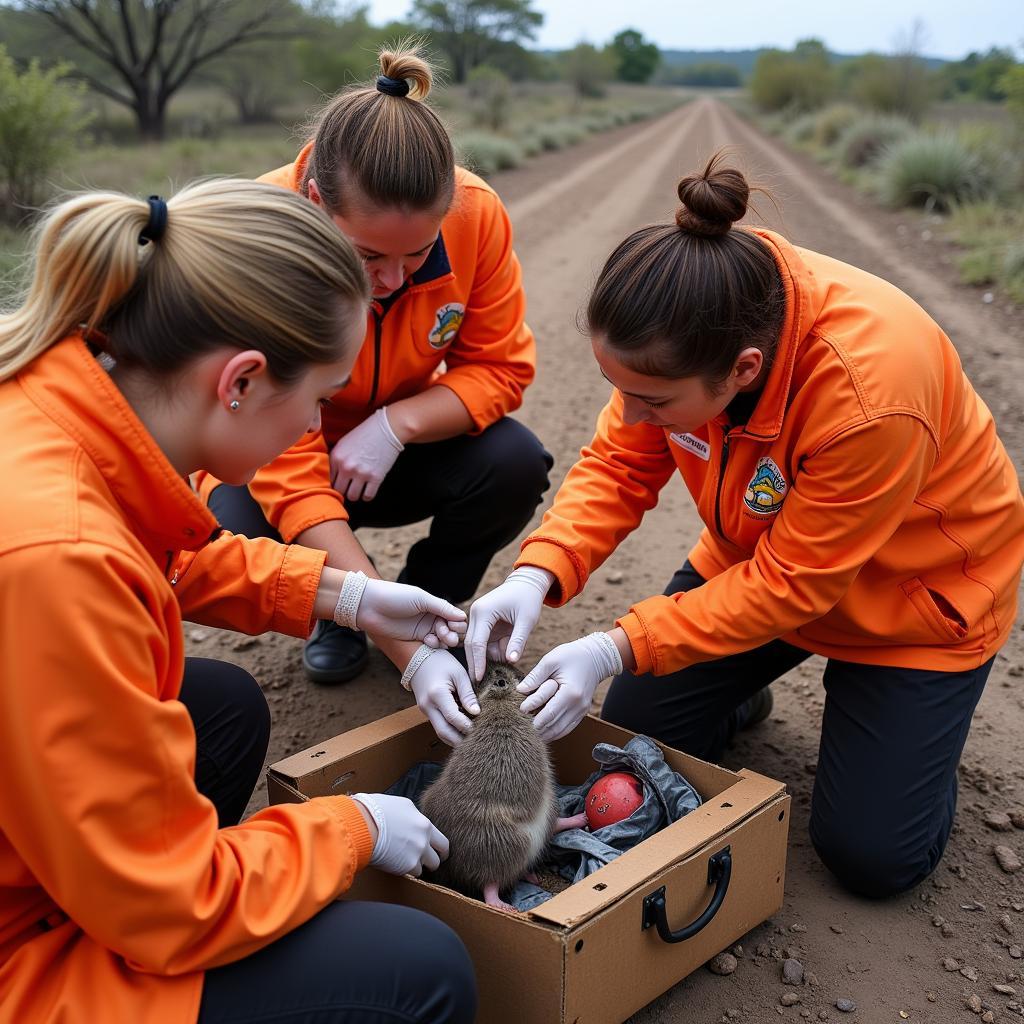
[[[216,531],[79,338],[0,384],[0,1021],[191,1024],[370,860],[327,797],[218,828],[182,617],[308,633],[323,552]]]

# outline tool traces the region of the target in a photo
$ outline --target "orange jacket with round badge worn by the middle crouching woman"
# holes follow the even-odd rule
[[[301,190],[312,143],[295,163],[260,180]],[[323,429],[307,434],[249,484],[286,541],[329,519],[347,519],[331,486],[328,453],[374,410],[434,384],[451,388],[479,432],[522,403],[537,366],[512,225],[489,185],[456,168],[452,209],[426,263],[386,308],[374,302],[352,377],[326,407]],[[443,365],[443,366],[442,366]],[[198,480],[208,499],[220,481]]]

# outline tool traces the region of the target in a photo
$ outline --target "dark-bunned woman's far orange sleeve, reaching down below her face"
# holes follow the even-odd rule
[[[594,439],[566,474],[541,525],[523,541],[516,566],[553,572],[556,584],[547,603],[564,604],[657,504],[675,468],[665,431],[624,423],[622,395],[614,391]]]

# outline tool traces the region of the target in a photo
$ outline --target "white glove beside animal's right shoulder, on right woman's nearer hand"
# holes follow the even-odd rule
[[[597,684],[622,671],[614,640],[607,633],[591,633],[545,654],[516,689],[530,694],[522,710],[539,712],[534,728],[550,743],[583,721]]]

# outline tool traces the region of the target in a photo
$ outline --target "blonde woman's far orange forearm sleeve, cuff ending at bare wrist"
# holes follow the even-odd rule
[[[324,551],[224,532],[199,551],[181,552],[171,580],[183,618],[305,638],[326,560]]]

